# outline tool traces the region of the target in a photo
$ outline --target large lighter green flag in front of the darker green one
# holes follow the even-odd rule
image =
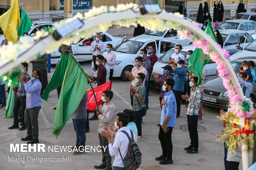
[[[53,134],[59,133],[80,104],[88,86],[88,77],[76,59],[69,55],[69,61],[64,75],[54,120]]]

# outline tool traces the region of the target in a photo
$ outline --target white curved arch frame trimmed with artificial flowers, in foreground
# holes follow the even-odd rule
[[[183,18],[180,18],[175,15],[170,15],[166,12],[161,12],[160,14],[145,14],[142,15],[140,12],[133,12],[132,10],[123,11],[123,12],[114,12],[114,13],[107,13],[102,14],[100,16],[95,16],[90,19],[83,20],[84,25],[79,28],[78,30],[75,30],[72,34],[75,34],[77,32],[81,32],[83,30],[87,30],[89,28],[98,26],[99,23],[109,23],[112,21],[119,21],[122,19],[133,19],[133,18],[159,18],[166,21],[171,21],[175,23],[179,23],[181,26],[187,28],[187,30],[192,31],[192,33],[197,34],[199,37],[201,37],[202,40],[206,40],[209,47],[215,52],[216,55],[220,56],[220,61],[223,61],[226,64],[226,67],[228,68],[228,74],[230,75],[230,78],[232,80],[232,84],[235,88],[238,87],[237,94],[239,95],[239,99],[244,100],[244,94],[242,92],[242,88],[240,86],[240,83],[238,82],[237,76],[235,75],[235,72],[233,71],[231,65],[229,64],[229,61],[225,58],[223,51],[218,47],[218,45],[211,39],[209,35],[204,33],[200,28],[192,24],[190,21],[187,21]],[[67,35],[68,37],[69,35]],[[56,40],[52,37],[52,35],[49,35],[43,39],[41,39],[39,42],[36,42],[33,44],[33,46],[30,49],[27,49],[26,51],[23,51],[22,54],[19,54],[19,56],[16,58],[16,61],[12,60],[5,60],[1,61],[0,63],[0,75],[5,74],[12,68],[15,68],[19,63],[22,61],[28,60],[32,58],[33,56],[36,56],[39,52],[43,52],[46,47],[51,46],[54,44]],[[240,119],[241,123],[241,129],[244,127],[244,118]],[[248,169],[248,153],[247,151],[242,151],[242,161],[243,161],[243,169]]]

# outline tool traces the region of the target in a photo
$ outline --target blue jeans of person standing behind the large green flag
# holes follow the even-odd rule
[[[85,119],[72,119],[76,131],[76,147],[85,147]]]

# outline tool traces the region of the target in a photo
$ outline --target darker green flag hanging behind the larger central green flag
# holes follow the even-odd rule
[[[62,85],[64,75],[66,72],[66,66],[68,65],[68,60],[69,60],[69,56],[63,51],[62,58],[60,58],[59,64],[55,72],[53,73],[49,84],[47,85],[47,87],[45,88],[45,91],[41,95],[41,98],[43,100],[47,101],[49,93]]]

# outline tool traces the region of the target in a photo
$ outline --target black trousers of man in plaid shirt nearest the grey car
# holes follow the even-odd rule
[[[187,126],[190,133],[190,144],[197,151],[198,150],[198,133],[197,133],[198,115],[187,115]]]

